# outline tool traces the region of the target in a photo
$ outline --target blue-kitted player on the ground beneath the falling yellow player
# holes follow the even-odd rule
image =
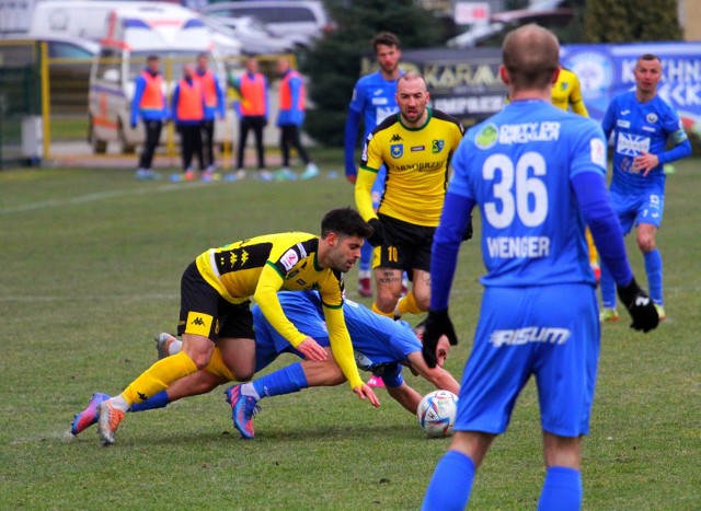
[[[286,317],[300,332],[313,336],[330,356],[322,363],[303,360],[251,383],[230,387],[227,391],[227,399],[231,403],[233,423],[244,438],[254,435],[252,417],[257,408],[257,402],[263,397],[289,394],[313,386],[340,385],[345,382],[343,372],[332,357],[319,293],[283,291],[278,293],[278,298]],[[446,337],[440,340],[438,367],[429,368],[422,357],[422,344],[417,337],[422,335],[423,327],[418,326],[415,333],[407,323],[380,316],[349,300],[344,301],[343,310],[358,368],[382,375],[388,393],[409,411],[416,413],[422,395],[404,381],[403,365],[424,376],[437,388],[445,388],[455,394],[459,392],[458,382],[443,369],[443,363],[450,351]],[[252,313],[255,329],[256,372],[265,369],[284,352],[295,353],[303,359],[302,353],[292,348],[273,328],[257,305],[253,306]],[[181,341],[173,336],[169,334],[159,336],[159,357],[174,355],[180,348]],[[206,369],[177,380],[168,390],[143,403],[133,405],[130,411],[162,408],[183,397],[210,392],[219,384],[232,380],[234,380],[233,374],[223,365],[220,353],[216,351],[212,362]],[[76,415],[71,432],[78,434],[93,425],[97,420],[99,403],[108,397],[105,394],[94,394],[88,408]]]

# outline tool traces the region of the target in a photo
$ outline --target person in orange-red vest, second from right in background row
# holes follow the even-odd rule
[[[265,169],[265,151],[263,149],[263,128],[267,126],[267,113],[269,108],[267,79],[258,72],[258,61],[255,57],[249,57],[245,61],[245,73],[231,80],[231,86],[237,91],[239,98],[234,105],[239,118],[239,149],[237,152],[237,179],[245,178],[243,154],[249,131],[255,137],[255,152],[258,163],[258,178],[271,181],[273,174]]]

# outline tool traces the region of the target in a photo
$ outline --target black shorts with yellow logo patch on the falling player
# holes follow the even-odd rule
[[[226,301],[191,263],[180,283],[177,335],[197,334],[215,342],[219,338],[255,339],[251,302]]]

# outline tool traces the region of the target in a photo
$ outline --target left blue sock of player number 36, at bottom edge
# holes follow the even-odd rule
[[[458,451],[448,451],[438,462],[428,483],[422,511],[462,511],[470,500],[474,462]]]

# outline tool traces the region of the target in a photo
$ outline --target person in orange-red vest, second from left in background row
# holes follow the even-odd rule
[[[205,121],[205,93],[202,82],[195,78],[195,67],[186,63],[183,78],[173,91],[171,109],[175,128],[180,132],[181,153],[185,181],[193,181],[193,156],[202,153],[202,129]],[[211,181],[211,172],[199,169],[203,181]]]

